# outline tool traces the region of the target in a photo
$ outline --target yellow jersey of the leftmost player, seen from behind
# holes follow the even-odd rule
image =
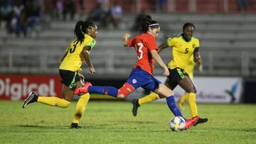
[[[84,60],[84,57],[81,54],[82,49],[85,48],[85,46],[89,46],[92,49],[95,44],[96,40],[87,34],[85,34],[85,39],[81,43],[79,40],[74,40],[66,49],[67,55],[60,63],[59,69],[70,70],[73,72],[82,70],[80,68],[82,66],[82,61]]]

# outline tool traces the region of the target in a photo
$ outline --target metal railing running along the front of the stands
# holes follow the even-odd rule
[[[0,53],[0,73],[55,74],[58,73],[62,55],[63,52],[60,50],[4,51]],[[163,60],[170,59],[170,55],[161,57]],[[97,73],[105,75],[127,75],[136,62],[134,55],[120,54],[114,50],[97,51],[91,58]],[[203,75],[256,76],[256,55],[252,52],[206,52],[202,59]],[[156,65],[154,73],[161,72],[161,67]]]

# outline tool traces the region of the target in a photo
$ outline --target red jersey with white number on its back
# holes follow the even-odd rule
[[[142,70],[153,75],[154,59],[151,55],[151,50],[157,50],[156,39],[149,33],[137,35],[127,42],[129,47],[134,47],[137,52],[138,61],[134,68],[140,67]]]

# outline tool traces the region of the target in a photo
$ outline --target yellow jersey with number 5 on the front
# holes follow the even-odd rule
[[[185,70],[191,55],[193,55],[193,51],[200,46],[197,38],[192,37],[187,42],[182,35],[175,38],[168,38],[166,43],[172,47],[172,60],[168,64],[169,69],[178,67]]]

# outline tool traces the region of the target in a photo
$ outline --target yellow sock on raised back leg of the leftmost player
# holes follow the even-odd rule
[[[60,99],[55,96],[38,96],[38,102],[41,102],[42,104],[48,104],[50,106],[58,106],[61,108],[67,108],[70,106],[70,101]]]

